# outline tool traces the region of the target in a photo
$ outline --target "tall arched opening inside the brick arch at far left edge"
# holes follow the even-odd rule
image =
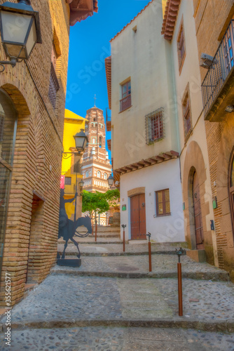
[[[17,113],[13,102],[0,89],[0,272],[4,252],[8,197],[13,170]]]

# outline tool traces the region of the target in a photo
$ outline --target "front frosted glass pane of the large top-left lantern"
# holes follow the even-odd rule
[[[25,44],[32,16],[1,11],[2,41]]]

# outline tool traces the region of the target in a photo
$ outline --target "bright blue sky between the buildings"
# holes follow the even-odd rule
[[[150,0],[99,0],[98,13],[77,22],[70,31],[66,108],[85,117],[94,105],[106,111],[108,97],[104,58],[111,55],[109,41]],[[109,133],[106,135],[110,138]]]

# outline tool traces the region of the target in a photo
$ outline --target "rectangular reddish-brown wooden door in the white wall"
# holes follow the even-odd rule
[[[145,196],[139,194],[131,197],[131,239],[146,239]]]

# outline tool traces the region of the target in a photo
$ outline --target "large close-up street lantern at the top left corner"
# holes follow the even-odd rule
[[[39,12],[34,11],[30,0],[10,1],[0,5],[1,42],[6,56],[11,61],[0,61],[4,65],[15,67],[19,60],[28,60],[36,43],[41,44]]]

